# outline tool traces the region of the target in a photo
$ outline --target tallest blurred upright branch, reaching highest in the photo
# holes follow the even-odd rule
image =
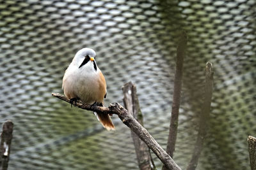
[[[179,108],[180,108],[180,93],[182,87],[182,67],[183,59],[185,57],[187,48],[187,37],[186,32],[182,33],[179,43],[177,45],[177,59],[176,59],[176,70],[174,78],[174,89],[173,89],[173,103],[172,103],[172,115],[170,120],[170,129],[168,136],[168,143],[166,152],[173,157],[175,150],[175,143],[177,139],[177,129],[179,122]]]

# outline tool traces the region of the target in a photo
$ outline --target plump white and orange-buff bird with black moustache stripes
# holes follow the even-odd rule
[[[67,67],[62,81],[65,96],[70,99],[71,106],[77,100],[95,106],[104,106],[107,96],[107,85],[104,75],[95,61],[96,53],[91,48],[79,50]],[[104,113],[95,113],[102,126],[115,130],[111,117]]]

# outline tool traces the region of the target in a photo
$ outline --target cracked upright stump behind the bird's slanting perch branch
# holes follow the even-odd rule
[[[139,99],[136,94],[136,86],[130,81],[124,84],[122,90],[124,92],[125,108],[143,126],[143,115],[141,113]],[[156,169],[150,155],[150,150],[148,150],[148,146],[136,135],[135,132],[131,131],[131,135],[140,169]]]

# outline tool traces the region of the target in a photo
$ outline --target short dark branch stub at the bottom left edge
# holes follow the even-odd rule
[[[11,120],[6,120],[4,122],[1,132],[1,143],[0,143],[0,164],[1,170],[8,169],[8,162],[10,158],[10,150],[12,143],[12,131],[13,131],[13,123]]]

